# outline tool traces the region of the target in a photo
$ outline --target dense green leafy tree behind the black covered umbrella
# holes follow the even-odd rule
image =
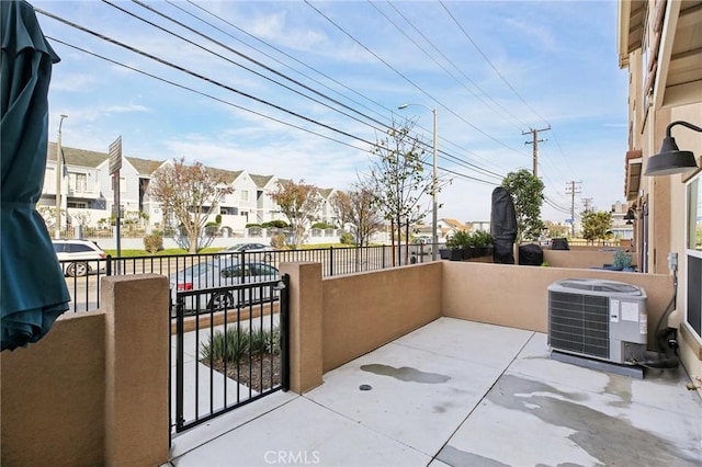
[[[517,214],[518,241],[537,240],[544,223],[541,221],[541,204],[544,200],[544,183],[526,169],[509,172],[502,186],[512,195]]]

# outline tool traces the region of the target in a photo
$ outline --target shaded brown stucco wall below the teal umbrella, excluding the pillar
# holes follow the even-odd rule
[[[104,314],[71,314],[39,342],[0,354],[0,464],[104,464]]]

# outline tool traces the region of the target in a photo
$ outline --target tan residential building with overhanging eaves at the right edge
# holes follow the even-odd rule
[[[619,65],[629,71],[625,196],[635,208],[634,247],[643,272],[668,274],[677,262],[680,355],[702,374],[702,2],[625,0],[619,3]],[[671,130],[698,168],[646,176],[650,157]],[[672,255],[670,255],[672,253]],[[673,261],[670,261],[671,258]]]

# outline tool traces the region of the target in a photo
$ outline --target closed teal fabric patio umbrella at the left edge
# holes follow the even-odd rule
[[[36,203],[48,143],[48,84],[58,56],[34,9],[0,1],[1,210],[0,328],[2,351],[42,339],[68,309],[70,296]]]

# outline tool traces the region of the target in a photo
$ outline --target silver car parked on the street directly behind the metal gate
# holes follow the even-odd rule
[[[169,276],[171,303],[176,306],[178,291],[200,291],[236,284],[274,281],[278,269],[262,262],[211,260],[193,264]],[[270,287],[222,291],[185,297],[185,310],[220,310],[236,305],[267,301],[272,298]]]

